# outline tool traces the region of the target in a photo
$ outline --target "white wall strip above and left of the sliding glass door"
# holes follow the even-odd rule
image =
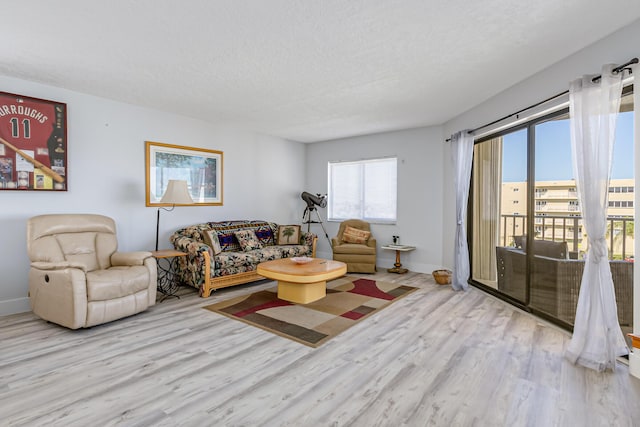
[[[529,105],[547,99],[569,89],[569,82],[583,74],[599,74],[603,64],[622,64],[640,56],[640,20],[601,39],[593,45],[542,70],[527,80],[497,94],[486,102],[460,114],[443,126],[447,137],[463,129],[473,129],[490,123]],[[482,82],[478,82],[482,84]],[[449,144],[444,156],[449,158]],[[638,154],[636,150],[636,154]],[[443,184],[453,186],[451,170],[445,170]],[[636,188],[638,178],[636,175]],[[452,192],[444,192],[443,199],[444,233],[442,252],[444,264],[453,265],[453,240],[455,237],[455,198]],[[640,309],[640,307],[638,307]]]

